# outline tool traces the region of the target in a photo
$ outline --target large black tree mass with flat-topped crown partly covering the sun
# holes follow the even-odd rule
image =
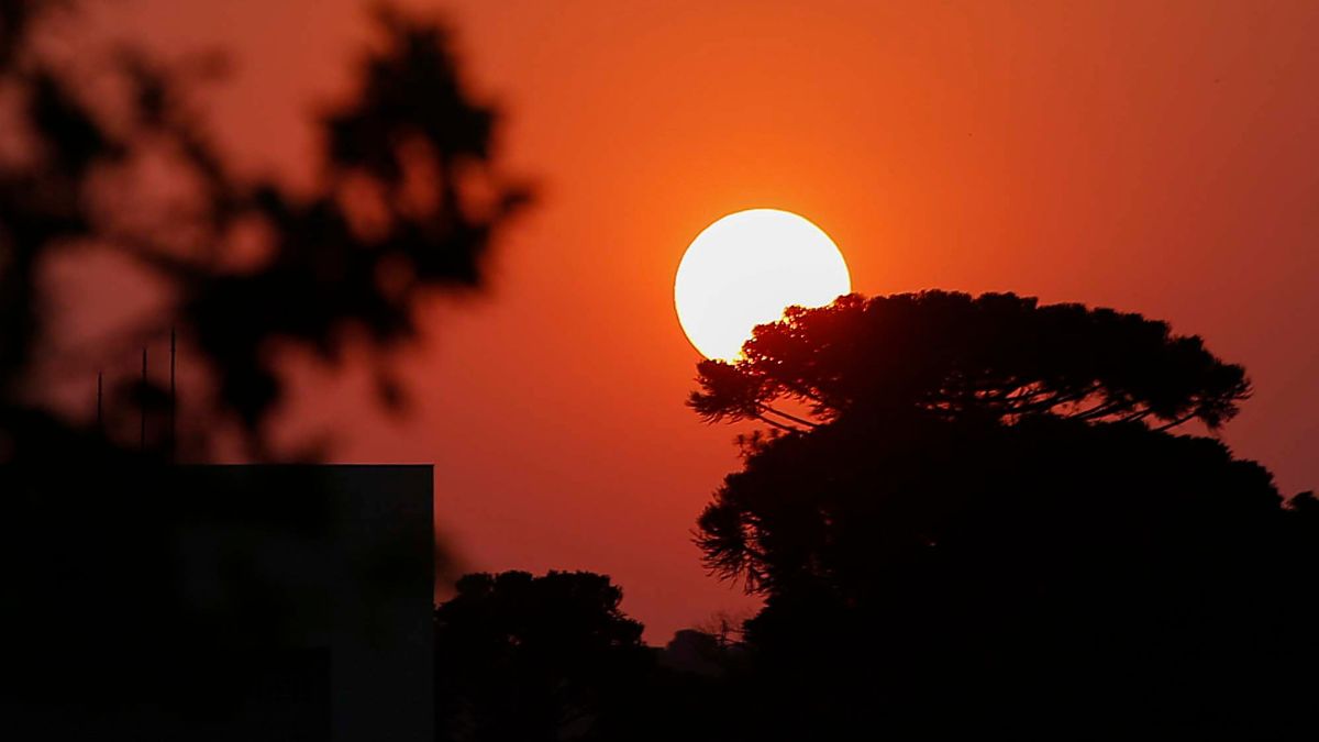
[[[793,309],[700,364],[758,438],[699,519],[772,727],[1312,731],[1310,498],[1217,440],[1239,366],[1162,322],[1012,294]],[[810,412],[785,409],[805,403]],[[807,721],[809,720],[809,721]]]

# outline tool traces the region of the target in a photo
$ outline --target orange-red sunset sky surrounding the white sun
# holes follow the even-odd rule
[[[228,49],[223,141],[289,170],[369,30],[350,0],[111,5],[116,33]],[[818,223],[864,293],[1016,290],[1202,334],[1257,387],[1228,442],[1319,487],[1319,4],[409,5],[447,13],[539,205],[492,290],[433,309],[410,419],[364,413],[361,379],[294,416],[343,429],[344,461],[433,461],[468,566],[609,573],[653,642],[747,605],[690,544],[737,462],[682,404],[671,290],[690,239],[752,206]]]

